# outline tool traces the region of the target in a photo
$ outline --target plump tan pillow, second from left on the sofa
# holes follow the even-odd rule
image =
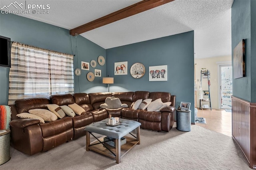
[[[28,112],[30,114],[43,118],[45,122],[52,122],[58,119],[58,117],[54,113],[46,109],[31,109]]]

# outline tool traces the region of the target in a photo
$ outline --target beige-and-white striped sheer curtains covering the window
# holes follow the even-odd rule
[[[74,93],[73,56],[13,42],[8,105],[56,93]]]

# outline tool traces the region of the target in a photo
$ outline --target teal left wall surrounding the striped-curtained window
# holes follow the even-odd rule
[[[75,38],[70,36],[69,30],[64,28],[14,14],[0,14],[0,35],[11,38],[11,41],[70,54],[76,54],[75,46],[77,44],[74,69],[81,68],[81,61],[90,62],[92,59],[97,61],[99,55],[106,57],[106,49],[82,36]],[[95,69],[101,69],[102,75],[106,75],[106,65],[97,65]],[[92,67],[90,67],[90,71],[94,73]],[[89,82],[86,79],[88,72],[82,70],[82,74],[79,77],[74,76],[75,93],[106,91],[106,86],[102,85],[102,77],[95,77],[93,82]],[[0,105],[7,105],[8,103],[8,77],[9,69],[0,67]]]

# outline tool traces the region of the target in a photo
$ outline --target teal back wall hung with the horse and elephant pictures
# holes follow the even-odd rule
[[[166,91],[181,101],[190,102],[194,123],[194,31],[124,45],[106,50],[107,75],[114,77],[110,91]],[[128,61],[128,75],[114,75],[114,62]],[[134,63],[142,63],[146,73],[140,79],[130,75]],[[167,65],[168,81],[148,81],[149,66]]]

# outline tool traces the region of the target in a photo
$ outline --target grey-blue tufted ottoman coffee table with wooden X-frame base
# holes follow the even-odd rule
[[[85,128],[86,130],[86,150],[93,150],[100,154],[104,154],[111,158],[116,159],[116,163],[120,163],[121,157],[124,156],[132,147],[136,144],[140,144],[140,123],[137,121],[119,119],[121,122],[120,125],[117,126],[108,126],[106,123],[108,119],[104,119],[100,122],[96,122],[92,125],[89,125]],[[131,132],[136,129],[136,136]],[[104,136],[101,138],[96,138],[94,134],[102,134],[104,136],[108,136],[114,138],[114,142],[116,142],[116,148],[106,144],[104,141]],[[98,141],[90,142],[90,134],[94,136]],[[125,136],[130,134],[131,137]],[[120,139],[124,137],[126,138],[126,144],[121,146]]]

